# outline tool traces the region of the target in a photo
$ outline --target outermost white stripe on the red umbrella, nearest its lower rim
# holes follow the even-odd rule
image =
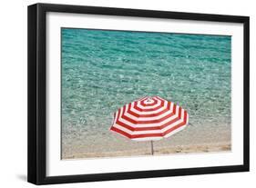
[[[130,135],[138,135],[138,134],[163,134],[164,132],[166,132],[167,130],[171,129],[172,127],[178,125],[178,124],[181,124],[183,121],[184,121],[184,109],[182,109],[182,112],[181,112],[181,118],[176,121],[175,123],[173,124],[169,124],[168,126],[166,126],[165,128],[163,129],[159,129],[159,130],[148,130],[148,131],[130,131],[128,130],[127,128],[119,125],[119,124],[114,124],[113,126],[118,128],[119,130],[123,131],[123,132],[126,132],[127,134],[130,134]],[[186,125],[186,124],[184,124]]]

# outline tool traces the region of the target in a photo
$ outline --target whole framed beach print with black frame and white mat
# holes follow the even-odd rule
[[[249,171],[249,17],[28,6],[28,182]]]

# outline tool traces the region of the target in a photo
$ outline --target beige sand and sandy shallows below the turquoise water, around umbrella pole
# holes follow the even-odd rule
[[[188,126],[178,134],[153,142],[154,155],[231,151],[230,125]],[[151,155],[151,143],[131,141],[119,134],[80,133],[65,139],[62,159]]]

